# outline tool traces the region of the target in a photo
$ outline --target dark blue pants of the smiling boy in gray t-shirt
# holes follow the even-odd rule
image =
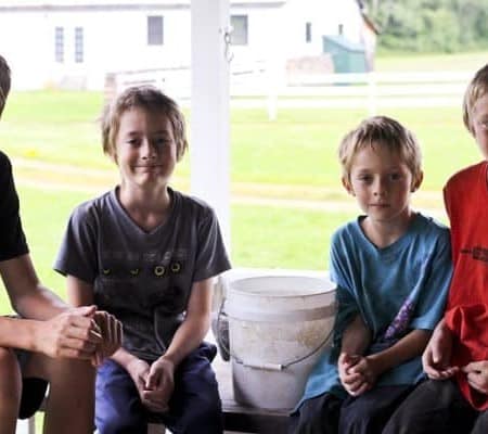
[[[203,343],[175,372],[175,392],[169,411],[149,412],[132,379],[118,363],[108,360],[99,368],[95,393],[95,424],[100,434],[145,434],[147,422],[159,420],[174,434],[220,434],[222,411],[210,362],[214,345]]]

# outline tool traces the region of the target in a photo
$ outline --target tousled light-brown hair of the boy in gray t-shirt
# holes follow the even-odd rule
[[[115,156],[115,140],[120,128],[120,117],[125,112],[134,107],[159,112],[167,116],[177,144],[177,159],[180,161],[188,149],[183,114],[171,98],[152,86],[127,88],[105,105],[101,118],[103,152]]]

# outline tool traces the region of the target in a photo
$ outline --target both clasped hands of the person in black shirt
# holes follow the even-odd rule
[[[90,360],[97,367],[120,347],[121,323],[95,306],[81,306],[39,321],[36,350],[50,357]]]

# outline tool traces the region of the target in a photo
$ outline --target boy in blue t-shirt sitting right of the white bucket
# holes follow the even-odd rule
[[[423,381],[421,355],[445,307],[449,230],[411,208],[421,150],[398,122],[363,120],[341,143],[343,184],[364,213],[331,243],[333,344],[292,413],[295,434],[380,434]]]

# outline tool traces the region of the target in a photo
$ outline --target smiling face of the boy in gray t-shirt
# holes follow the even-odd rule
[[[166,187],[177,162],[177,145],[167,116],[140,107],[124,112],[114,161],[123,184]]]

